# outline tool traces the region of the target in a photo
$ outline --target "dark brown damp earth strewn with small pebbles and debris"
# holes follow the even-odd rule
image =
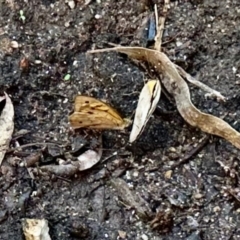
[[[106,42],[144,46],[146,38],[138,36],[149,4],[137,2],[80,0],[71,9],[68,1],[1,1],[0,90],[14,103],[14,136],[29,131],[13,137],[11,147],[33,146],[10,152],[1,167],[0,239],[23,239],[26,217],[47,219],[58,240],[240,239],[239,150],[210,136],[171,172],[205,134],[186,124],[164,95],[132,146],[130,128],[103,132],[102,159],[118,154],[90,170],[33,179],[20,164],[33,154],[39,154],[39,166],[71,159],[76,136],[68,115],[78,93],[107,100],[125,117],[133,114],[147,72],[117,53],[86,57],[86,51],[108,47]],[[19,46],[12,48],[11,41]],[[240,131],[239,0],[172,1],[163,43],[172,61],[228,98],[206,99],[190,86],[194,104]],[[54,154],[36,144],[43,142],[60,149]]]

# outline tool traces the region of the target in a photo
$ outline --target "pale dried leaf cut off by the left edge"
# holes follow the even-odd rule
[[[0,165],[9,148],[14,130],[14,109],[12,101],[6,93],[4,97],[1,97],[0,101],[2,100],[5,100],[6,103],[0,115]]]

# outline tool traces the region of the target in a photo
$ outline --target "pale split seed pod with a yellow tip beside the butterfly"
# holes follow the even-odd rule
[[[129,142],[134,142],[143,132],[149,118],[157,107],[161,95],[159,80],[148,81],[139,96]]]

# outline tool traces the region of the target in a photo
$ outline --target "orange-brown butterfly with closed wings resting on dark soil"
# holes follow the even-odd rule
[[[77,96],[74,113],[69,116],[72,128],[119,129],[129,126],[131,121],[122,118],[106,103],[88,96]]]

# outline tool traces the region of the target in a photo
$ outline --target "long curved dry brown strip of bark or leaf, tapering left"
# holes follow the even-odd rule
[[[163,76],[162,83],[173,95],[181,116],[194,127],[222,137],[240,149],[240,133],[222,119],[199,111],[191,102],[187,83],[179,75],[175,65],[162,52],[141,47],[115,47],[89,51],[89,53],[117,51],[130,58],[148,62]]]

